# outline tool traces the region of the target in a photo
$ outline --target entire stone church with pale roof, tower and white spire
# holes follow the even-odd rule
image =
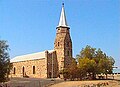
[[[62,5],[59,24],[56,27],[54,49],[11,59],[10,62],[13,64],[11,77],[58,77],[59,71],[67,68],[72,60],[72,41],[69,29],[64,5]]]

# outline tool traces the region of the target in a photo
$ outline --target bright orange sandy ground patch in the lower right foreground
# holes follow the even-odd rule
[[[66,81],[66,82],[52,85],[50,87],[98,87],[96,86],[97,84],[101,84],[100,87],[120,87],[120,83],[118,83],[118,81],[115,81],[115,80]]]

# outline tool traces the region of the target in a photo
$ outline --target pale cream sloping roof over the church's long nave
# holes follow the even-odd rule
[[[53,52],[54,50],[47,50],[49,53]],[[28,61],[28,60],[36,60],[36,59],[43,59],[45,58],[45,52],[37,52],[32,54],[26,54],[22,56],[16,56],[10,60],[10,62],[21,62],[21,61]]]

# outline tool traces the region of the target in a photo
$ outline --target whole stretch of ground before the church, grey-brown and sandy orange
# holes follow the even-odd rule
[[[108,77],[113,79],[112,76]],[[54,79],[54,81],[42,78],[11,78],[9,82],[3,85],[8,87],[120,87],[120,74],[114,75],[114,80],[92,81],[64,81],[59,78]]]

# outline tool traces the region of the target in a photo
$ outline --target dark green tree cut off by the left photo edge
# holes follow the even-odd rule
[[[11,69],[8,47],[5,40],[0,40],[0,82],[7,80]]]

